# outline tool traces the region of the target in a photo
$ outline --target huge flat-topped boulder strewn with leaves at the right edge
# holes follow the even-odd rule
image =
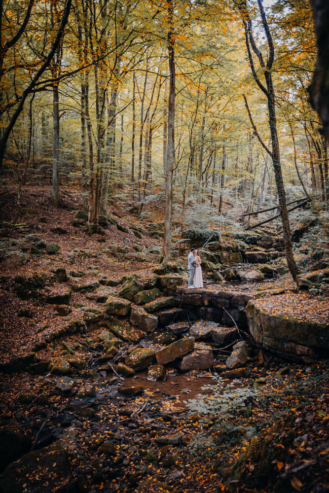
[[[268,309],[271,298],[278,307],[273,315]],[[293,306],[294,303],[298,305],[298,318],[291,314],[291,304]],[[291,293],[289,297],[283,293],[250,301],[246,307],[250,333],[265,349],[310,362],[329,350],[328,317],[323,322],[310,319],[308,312],[313,303],[301,291]],[[326,302],[319,297],[317,309],[319,313],[328,312]]]

